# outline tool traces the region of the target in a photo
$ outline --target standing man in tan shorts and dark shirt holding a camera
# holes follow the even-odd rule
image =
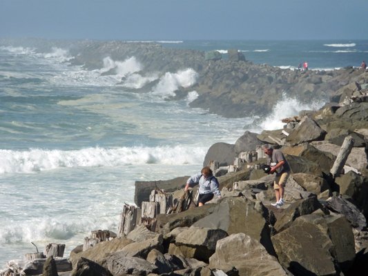
[[[267,155],[267,165],[271,166],[270,174],[276,172],[273,188],[275,189],[276,203],[271,204],[280,208],[284,205],[284,187],[290,176],[290,166],[280,150],[274,150],[270,145],[262,146],[264,153]]]

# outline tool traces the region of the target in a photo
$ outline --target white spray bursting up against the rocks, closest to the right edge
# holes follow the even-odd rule
[[[293,117],[299,114],[301,110],[319,110],[325,101],[316,101],[314,103],[300,103],[298,99],[288,98],[287,95],[283,95],[275,106],[272,108],[271,115],[266,117],[260,127],[264,130],[277,130],[284,127],[282,119]]]

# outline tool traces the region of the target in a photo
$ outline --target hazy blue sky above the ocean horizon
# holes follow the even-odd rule
[[[368,39],[368,0],[0,0],[0,37]]]

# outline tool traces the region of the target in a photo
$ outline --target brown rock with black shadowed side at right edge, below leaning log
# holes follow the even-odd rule
[[[353,170],[346,175],[336,177],[336,184],[340,186],[341,195],[349,195],[358,204],[365,217],[368,216],[368,179],[358,175]]]

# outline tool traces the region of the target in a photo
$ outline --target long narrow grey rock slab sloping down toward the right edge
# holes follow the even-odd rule
[[[345,215],[352,227],[358,230],[363,230],[367,227],[367,220],[365,216],[360,213],[354,204],[340,197],[330,197],[327,199],[327,208],[333,210],[335,213]]]

